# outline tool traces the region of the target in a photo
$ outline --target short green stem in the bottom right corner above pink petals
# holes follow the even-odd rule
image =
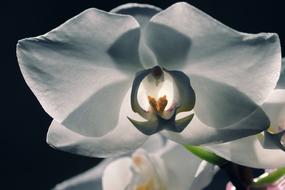
[[[252,186],[262,186],[266,184],[272,184],[278,181],[283,176],[285,176],[285,167],[279,168],[271,173],[264,173],[258,178],[255,178],[252,183]]]

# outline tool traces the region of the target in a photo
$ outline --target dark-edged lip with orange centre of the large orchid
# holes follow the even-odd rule
[[[163,129],[182,132],[194,114],[178,120],[176,114],[191,111],[194,104],[194,90],[190,79],[183,72],[168,71],[155,66],[137,73],[131,93],[133,111],[146,121],[136,121],[130,117],[128,119],[145,135],[152,135]]]

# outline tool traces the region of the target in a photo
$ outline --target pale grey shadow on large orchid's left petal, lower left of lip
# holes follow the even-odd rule
[[[69,114],[62,124],[84,136],[105,135],[116,127],[122,100],[129,87],[127,81],[103,87]]]

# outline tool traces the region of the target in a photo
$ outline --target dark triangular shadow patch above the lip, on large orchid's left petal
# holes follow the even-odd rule
[[[139,28],[124,33],[108,49],[108,54],[117,63],[116,67],[123,72],[135,73],[143,69],[138,53],[140,33]]]

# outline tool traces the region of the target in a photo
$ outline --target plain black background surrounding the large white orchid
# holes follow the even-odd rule
[[[17,40],[44,34],[87,8],[109,11],[127,2],[130,1],[14,0],[1,3],[0,189],[50,189],[100,161],[57,151],[45,143],[51,118],[21,76],[15,55]],[[176,1],[136,2],[164,9]],[[278,33],[284,51],[285,5],[282,0],[188,2],[234,29]]]

